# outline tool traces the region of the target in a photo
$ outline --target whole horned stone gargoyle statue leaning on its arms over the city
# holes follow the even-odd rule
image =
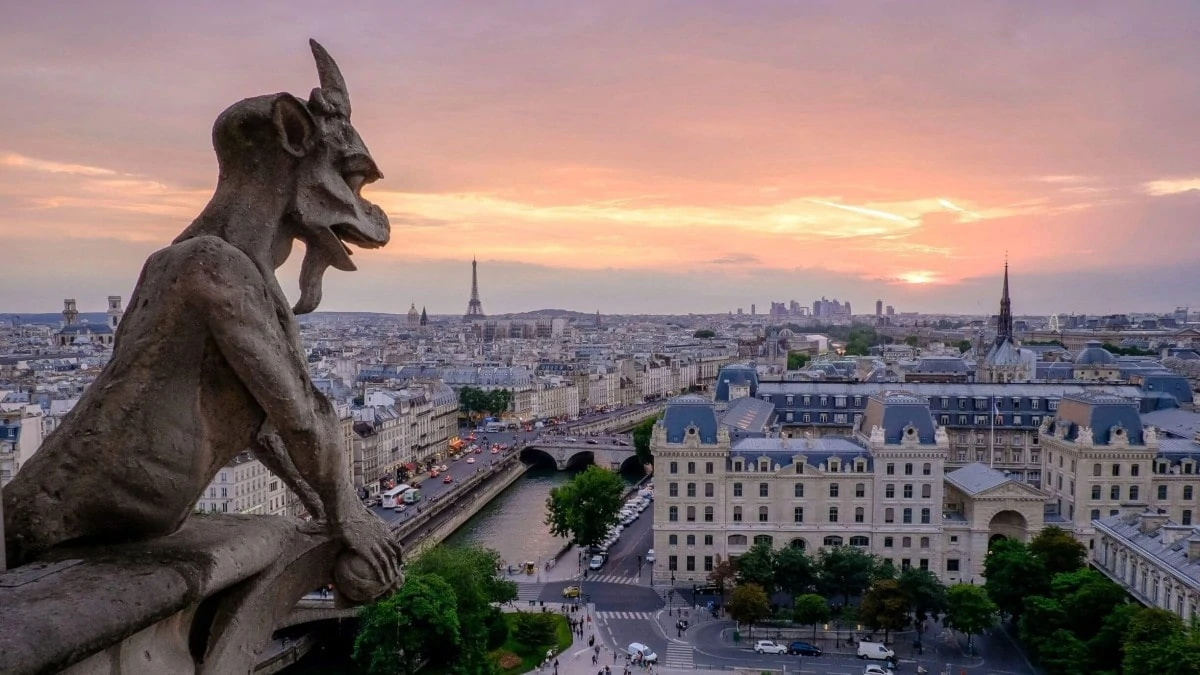
[[[390,235],[360,193],[383,175],[350,125],[346,82],[311,47],[320,86],[307,101],[258,96],[217,118],[211,201],[146,259],[112,360],[4,488],[10,567],[54,546],[172,534],[250,449],[344,544],[352,599],[402,583],[400,544],[355,495],[295,317],[317,307],[328,268],[355,269],[347,244],[374,249]],[[289,307],[275,270],[296,239],[306,250]]]

